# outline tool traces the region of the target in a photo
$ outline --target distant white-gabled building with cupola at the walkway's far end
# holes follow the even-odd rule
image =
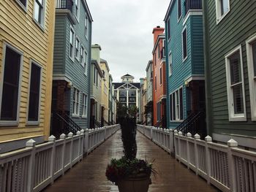
[[[133,82],[134,77],[130,74],[125,74],[121,80],[122,82],[113,82],[117,101],[127,107],[139,108],[140,82]]]

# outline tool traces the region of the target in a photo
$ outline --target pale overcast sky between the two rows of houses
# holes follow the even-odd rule
[[[92,44],[102,47],[114,82],[131,74],[146,77],[152,59],[153,28],[163,22],[170,0],[87,0],[94,22]]]

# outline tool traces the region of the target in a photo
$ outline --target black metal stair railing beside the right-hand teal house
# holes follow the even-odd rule
[[[192,135],[200,134],[201,138],[206,137],[206,115],[205,112],[195,112],[189,115],[177,128],[183,134],[188,132]]]

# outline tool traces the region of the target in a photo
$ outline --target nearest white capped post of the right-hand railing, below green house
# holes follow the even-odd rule
[[[236,188],[236,174],[235,174],[235,162],[232,155],[232,149],[238,147],[238,142],[234,139],[230,139],[227,142],[228,152],[227,152],[227,163],[228,163],[228,173],[230,175],[230,191],[237,191]]]

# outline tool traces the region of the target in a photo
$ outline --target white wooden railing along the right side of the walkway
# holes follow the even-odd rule
[[[256,153],[238,148],[230,139],[227,145],[212,142],[207,136],[183,136],[181,132],[137,125],[138,131],[178,161],[222,191],[256,191]],[[255,146],[256,147],[256,146]]]

